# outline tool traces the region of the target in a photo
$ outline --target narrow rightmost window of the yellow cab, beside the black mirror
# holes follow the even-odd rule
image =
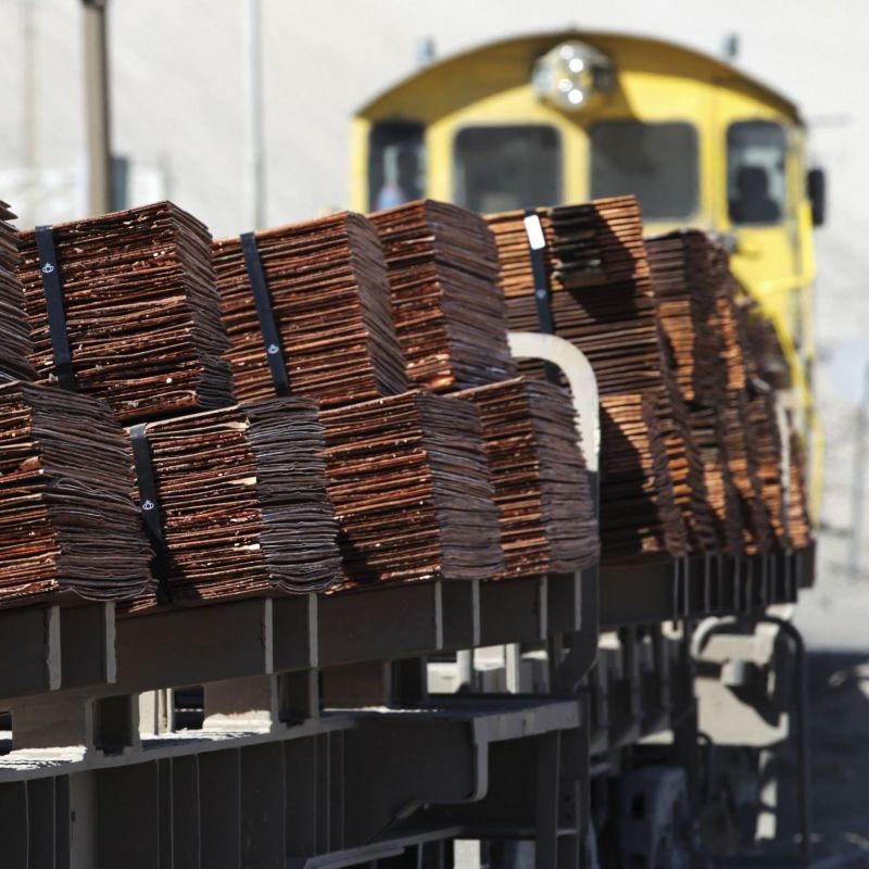
[[[786,199],[786,138],[770,121],[742,121],[727,131],[730,219],[754,226],[781,223]]]

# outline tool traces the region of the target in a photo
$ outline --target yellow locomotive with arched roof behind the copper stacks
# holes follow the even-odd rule
[[[695,226],[732,251],[772,323],[777,386],[813,459],[813,225],[823,176],[785,97],[669,42],[556,33],[489,45],[420,70],[365,105],[352,129],[352,202],[420,197],[479,212],[635,194],[650,232]]]

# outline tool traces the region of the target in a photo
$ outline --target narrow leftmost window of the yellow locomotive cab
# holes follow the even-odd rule
[[[379,211],[421,199],[424,129],[408,121],[375,124],[368,149],[368,209]]]

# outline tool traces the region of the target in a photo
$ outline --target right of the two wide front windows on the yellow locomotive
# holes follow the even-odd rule
[[[647,221],[697,210],[697,131],[691,124],[604,121],[589,129],[592,199],[633,193]]]

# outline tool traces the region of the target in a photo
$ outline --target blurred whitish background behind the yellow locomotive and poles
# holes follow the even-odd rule
[[[444,55],[571,25],[718,53],[738,33],[739,65],[801,105],[810,153],[829,171],[831,219],[818,234],[824,519],[849,527],[855,402],[869,362],[866,0],[262,0],[262,9],[269,224],[345,204],[353,110],[412,72],[426,37]],[[218,236],[247,228],[243,23],[243,0],[111,0],[115,151],[162,169],[171,198]],[[0,181],[4,169],[80,168],[77,0],[0,0]],[[869,577],[869,515],[866,531]],[[846,561],[842,541],[824,534],[828,581]]]

